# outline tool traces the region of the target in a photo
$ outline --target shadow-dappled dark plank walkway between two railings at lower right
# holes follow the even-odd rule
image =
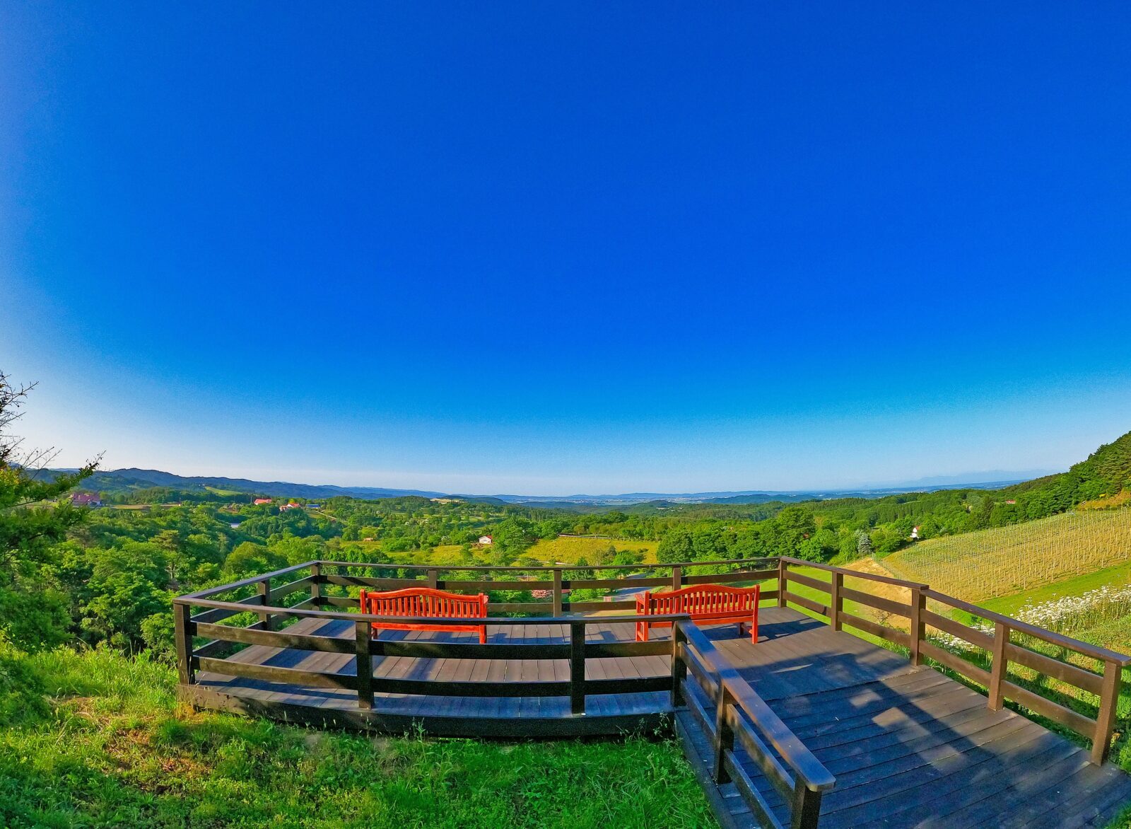
[[[821,827],[1093,827],[1131,802],[1131,777],[926,666],[789,608],[763,614],[751,646],[710,631],[789,729],[836,778]],[[714,704],[689,682],[708,713]],[[710,777],[714,750],[676,715],[684,752],[724,826],[757,826],[733,784]],[[778,820],[786,804],[748,757],[743,768]]]

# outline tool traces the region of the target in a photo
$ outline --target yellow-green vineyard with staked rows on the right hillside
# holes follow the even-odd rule
[[[1131,508],[1069,512],[933,538],[882,559],[895,575],[981,601],[1131,559]]]

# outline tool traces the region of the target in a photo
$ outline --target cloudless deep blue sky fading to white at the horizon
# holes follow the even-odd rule
[[[0,39],[0,367],[60,463],[795,489],[1131,429],[1125,3],[5,3]]]

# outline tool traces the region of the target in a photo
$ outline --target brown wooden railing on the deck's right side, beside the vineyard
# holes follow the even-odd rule
[[[827,572],[829,581],[797,573],[796,569]],[[846,576],[864,582],[905,588],[908,592],[907,601],[875,596],[866,589],[847,588],[844,584]],[[827,593],[828,602],[826,604],[823,598],[814,600],[798,595],[789,589],[791,583],[803,584]],[[846,613],[844,609],[845,599],[879,610],[881,614],[906,618],[907,631]],[[931,609],[929,601],[935,602],[935,609]],[[1090,740],[1090,758],[1094,763],[1099,764],[1107,759],[1115,725],[1115,709],[1122,687],[1123,668],[1131,665],[1131,657],[987,610],[968,601],[931,590],[926,584],[783,557],[778,563],[778,605],[785,607],[787,602],[824,616],[834,630],[847,626],[906,648],[914,665],[922,665],[926,658],[950,668],[986,689],[987,706],[991,710],[996,711],[1001,709],[1004,700],[1011,700],[1022,708],[1047,717]],[[947,607],[964,610],[972,616],[993,623],[993,633],[935,612]],[[957,636],[984,651],[988,669],[931,641],[926,633],[927,627]],[[1062,652],[1095,660],[1103,667],[1097,673],[1080,665],[1041,653],[1022,643],[1012,641],[1013,633],[1055,646]],[[1047,693],[1047,689],[1043,686],[1025,687],[1013,682],[1009,678],[1011,663],[1094,694],[1098,698],[1096,716],[1085,716],[1068,706],[1048,699],[1041,693],[1041,691]]]

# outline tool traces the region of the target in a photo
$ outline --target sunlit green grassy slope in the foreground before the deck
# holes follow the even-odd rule
[[[163,665],[17,660],[54,700],[3,693],[0,826],[715,826],[665,741],[487,743],[322,733],[179,708]],[[10,673],[10,672],[9,672]]]

